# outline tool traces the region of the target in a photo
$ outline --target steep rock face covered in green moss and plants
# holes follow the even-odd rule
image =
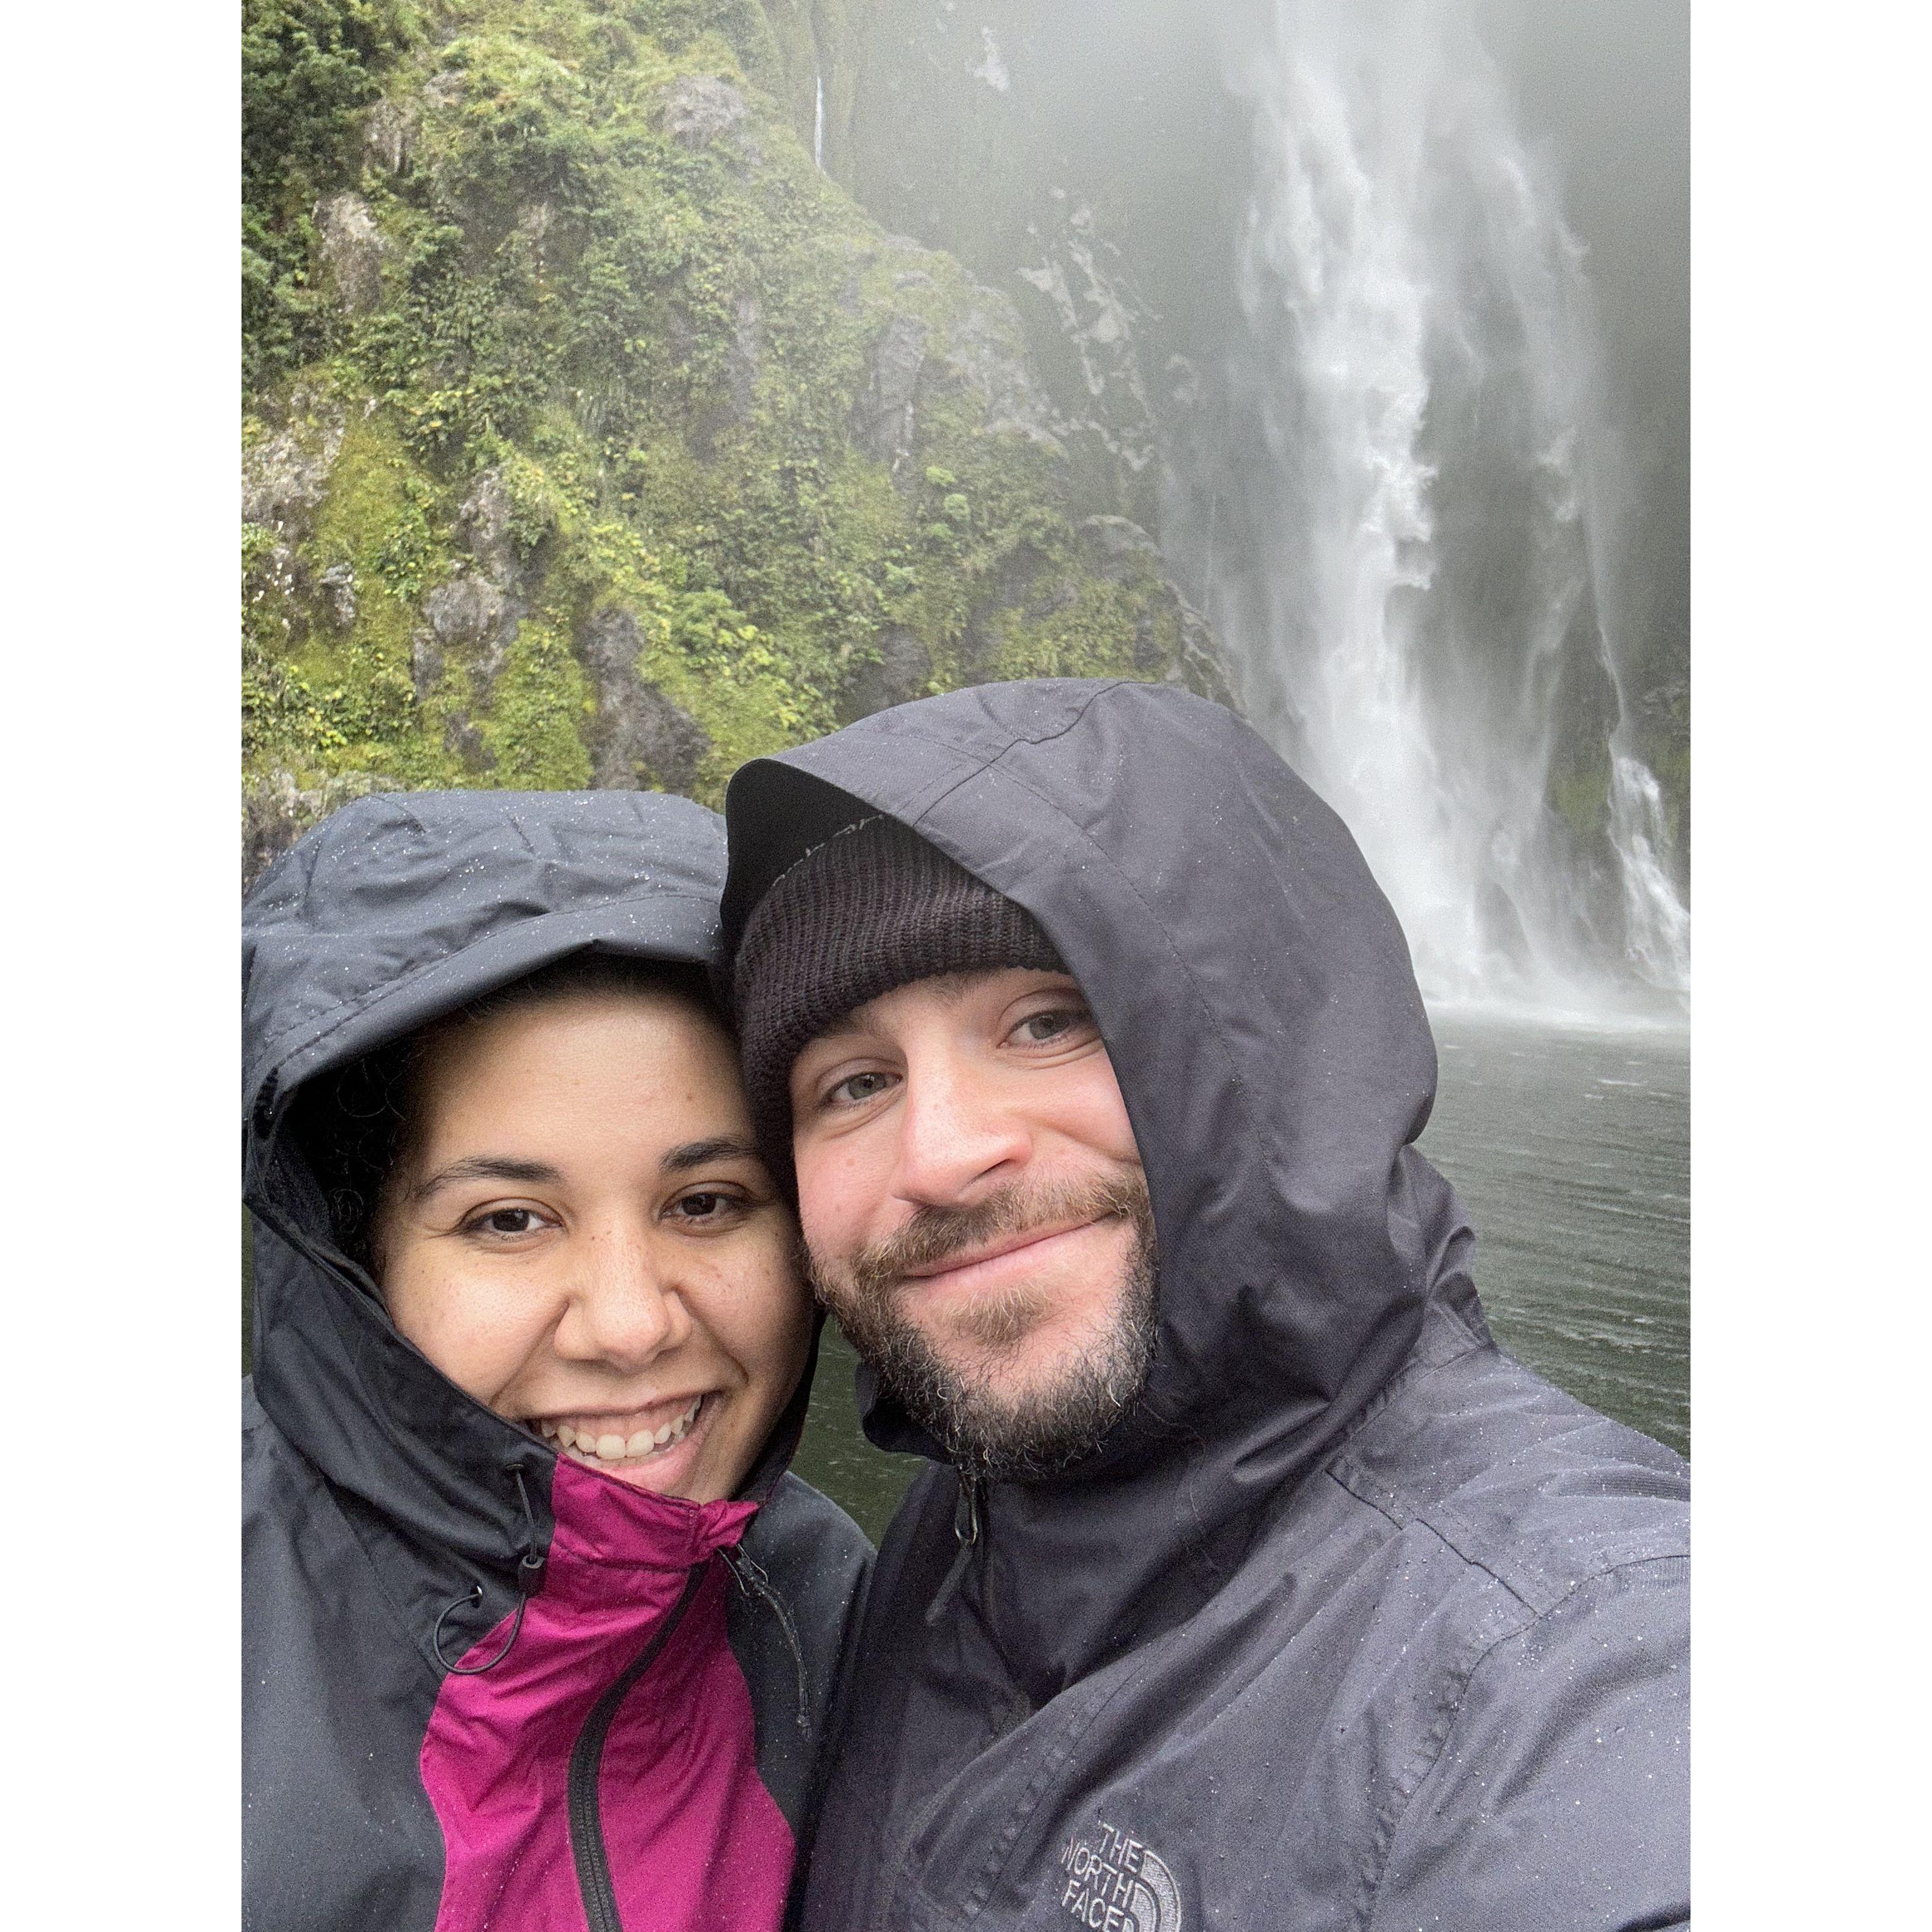
[[[958,682],[1225,697],[1010,303],[813,166],[810,58],[752,0],[249,0],[255,862],[377,779],[715,804]]]

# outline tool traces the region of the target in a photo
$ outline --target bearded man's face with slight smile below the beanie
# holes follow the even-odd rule
[[[1153,1352],[1153,1217],[1065,974],[918,980],[811,1039],[792,1148],[813,1283],[966,1470],[1094,1449]]]

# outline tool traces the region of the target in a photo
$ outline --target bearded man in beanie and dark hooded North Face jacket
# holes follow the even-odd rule
[[[1039,682],[726,819],[753,1115],[933,1464],[808,1928],[1687,1920],[1687,1468],[1492,1345],[1335,815],[1215,705]]]

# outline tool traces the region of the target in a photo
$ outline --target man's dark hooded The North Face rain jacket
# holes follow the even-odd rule
[[[1493,1347],[1412,1146],[1435,1053],[1406,945],[1347,829],[1179,690],[981,686],[738,773],[726,954],[864,811],[1080,980],[1148,1173],[1159,1347],[1070,1472],[914,1482],[808,1926],[1685,1918],[1687,1468]],[[937,1459],[867,1374],[860,1405]]]

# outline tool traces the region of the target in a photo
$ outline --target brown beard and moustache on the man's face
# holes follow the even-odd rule
[[[1018,1283],[970,1302],[954,1329],[987,1356],[970,1368],[945,1360],[898,1308],[908,1269],[1034,1227],[1119,1215],[1134,1250],[1101,1335],[1076,1345],[1047,1385],[1007,1393],[1003,1362],[1024,1358],[1028,1335],[1051,1312],[1047,1291]],[[1148,1184],[1138,1179],[1010,1186],[974,1208],[922,1208],[896,1235],[860,1248],[837,1275],[808,1256],[819,1300],[906,1412],[968,1476],[987,1482],[1055,1476],[1092,1455],[1126,1412],[1153,1366],[1155,1242]]]

